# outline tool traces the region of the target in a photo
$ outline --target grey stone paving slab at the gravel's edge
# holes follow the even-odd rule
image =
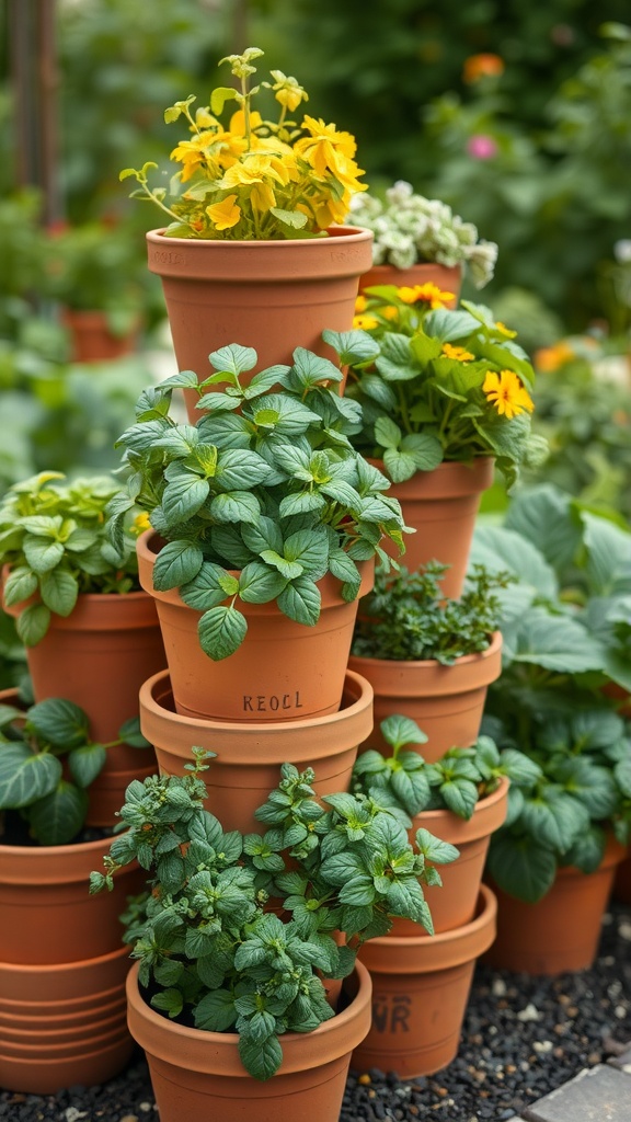
[[[598,1064],[529,1106],[522,1122],[631,1122],[631,1078]]]

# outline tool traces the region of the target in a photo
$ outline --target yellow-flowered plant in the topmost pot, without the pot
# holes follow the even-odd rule
[[[167,205],[165,187],[149,187],[148,174],[157,165],[125,168],[120,178],[134,176],[139,186],[132,197],[149,199],[171,219],[167,237],[210,239],[289,239],[323,233],[342,222],[351,194],[365,191],[355,163],[357,145],[349,132],[304,114],[291,116],[309,95],[294,77],[272,71],[272,82],[250,86],[254,61],[263,50],[248,47],[228,55],[236,86],[218,86],[210,105],[192,112],[195,95],[165,110],[165,121],[185,123],[191,139],[181,140],[171,158],[181,164],[172,185],[184,187]],[[271,90],[281,110],[275,121],[264,120],[253,108],[262,89]],[[236,111],[226,128],[220,117],[227,102]]]

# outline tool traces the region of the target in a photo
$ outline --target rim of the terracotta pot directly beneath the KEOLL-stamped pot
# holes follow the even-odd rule
[[[235,721],[235,720],[212,720],[209,717],[188,717],[183,714],[173,712],[165,709],[155,698],[155,690],[165,680],[170,679],[168,670],[159,670],[157,674],[148,678],[143,683],[139,691],[140,718],[146,723],[147,732],[152,733],[152,742],[159,744],[164,739],[171,749],[177,741],[177,732],[184,735],[186,744],[195,743],[191,741],[191,735],[198,737],[196,743],[203,743],[209,734],[213,741],[221,744],[223,752],[227,748],[238,749],[238,762],[243,764],[265,762],[262,752],[276,748],[276,754],[283,760],[290,755],[295,760],[301,760],[304,752],[309,751],[310,758],[318,758],[318,752],[312,744],[313,733],[320,734],[322,749],[321,754],[330,755],[331,748],[328,738],[322,735],[329,728],[336,728],[336,743],[340,744],[340,726],[348,727],[348,739],[355,746],[363,737],[368,735],[368,729],[364,727],[366,719],[372,728],[373,712],[373,687],[362,674],[353,670],[347,670],[345,675],[345,689],[350,687],[349,692],[355,698],[345,709],[337,712],[329,712],[322,717],[298,718],[296,720],[280,721]],[[150,729],[148,725],[150,724]],[[246,738],[244,741],[244,737]],[[199,738],[202,738],[201,741]],[[308,741],[308,745],[304,741]],[[286,742],[293,747],[287,748]],[[346,744],[346,741],[344,742]],[[249,745],[249,748],[248,748]],[[350,746],[350,743],[349,743]]]

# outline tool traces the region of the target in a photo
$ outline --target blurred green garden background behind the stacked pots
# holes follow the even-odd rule
[[[119,172],[171,174],[165,107],[204,103],[219,59],[257,45],[312,116],[355,134],[373,193],[406,180],[497,242],[493,280],[463,295],[533,356],[541,477],[628,524],[630,24],[629,0],[8,0],[0,494],[37,471],[115,469],[136,397],[173,373],[146,268],[159,223]],[[77,350],[73,311],[104,313],[121,353]],[[20,668],[0,615],[0,684]]]

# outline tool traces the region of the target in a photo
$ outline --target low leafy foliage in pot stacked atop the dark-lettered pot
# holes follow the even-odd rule
[[[414,745],[428,738],[410,717],[393,714],[379,728],[392,754],[384,756],[376,748],[362,752],[353,769],[354,791],[381,807],[403,811],[409,826],[423,810],[450,810],[468,820],[503,775],[525,783],[539,774],[523,752],[500,752],[491,736],[478,736],[470,747],[449,748],[440,760],[427,763]]]

